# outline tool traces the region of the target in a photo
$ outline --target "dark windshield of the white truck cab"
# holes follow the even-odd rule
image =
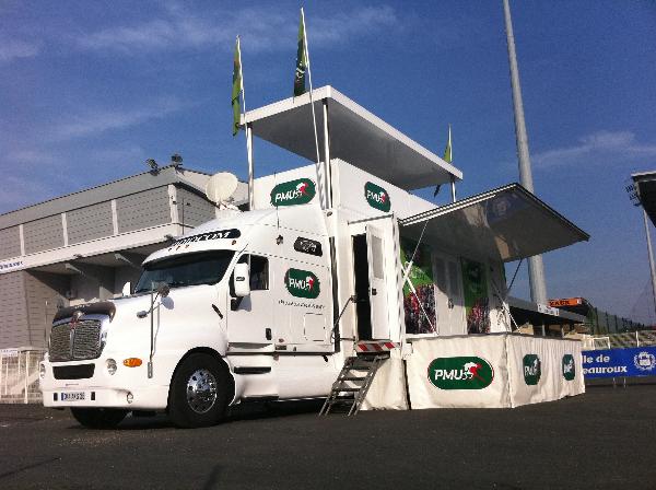
[[[165,282],[171,288],[215,284],[232,260],[234,252],[212,250],[185,254],[152,261],[143,266],[134,293],[150,291],[153,283]]]

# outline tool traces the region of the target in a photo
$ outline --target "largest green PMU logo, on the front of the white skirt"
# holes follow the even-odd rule
[[[482,358],[437,358],[429,365],[429,381],[440,389],[483,389],[494,369]]]

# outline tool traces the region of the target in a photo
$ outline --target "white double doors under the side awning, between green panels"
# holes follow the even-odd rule
[[[466,334],[460,262],[454,256],[435,252],[433,267],[437,332],[443,336]]]

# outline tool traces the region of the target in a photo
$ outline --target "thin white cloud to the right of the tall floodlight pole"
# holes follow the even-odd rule
[[[538,166],[552,167],[573,161],[596,161],[602,154],[613,158],[656,158],[656,144],[639,143],[631,131],[598,131],[579,138],[577,144],[535,153],[531,161]]]

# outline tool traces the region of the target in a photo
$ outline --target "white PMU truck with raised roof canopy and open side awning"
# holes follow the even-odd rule
[[[198,427],[247,400],[327,397],[359,354],[400,360],[412,339],[467,334],[470,262],[485,284],[477,322],[511,331],[503,264],[587,240],[517,184],[435,207],[410,190],[455,185],[457,168],[329,86],[314,101],[330,164],[255,179],[253,210],[149,256],[125,298],[61,310],[46,407],[87,427],[153,410]],[[244,122],[312,159],[311,114],[305,94]]]

